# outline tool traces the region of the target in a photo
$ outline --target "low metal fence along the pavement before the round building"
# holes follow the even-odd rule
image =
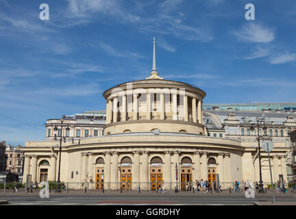
[[[40,189],[44,188],[45,185],[34,184],[34,183],[0,183],[0,194],[12,193],[12,192],[39,192]],[[271,183],[263,183],[264,192],[273,192],[271,188]],[[275,191],[282,192],[282,186],[277,189],[276,183],[273,183],[273,188]],[[285,183],[285,188],[288,192],[293,190],[293,185],[290,183]],[[257,191],[256,185],[252,186],[254,191]],[[57,183],[49,182],[49,192],[63,193],[89,193],[89,192],[176,192],[176,191],[187,191],[187,192],[244,192],[245,188],[243,183],[240,183],[238,188],[236,188],[235,183],[232,182],[220,182],[220,183],[210,183],[208,187],[197,186],[194,182],[182,183],[182,182],[105,182],[105,183],[90,183],[90,182],[66,182]]]

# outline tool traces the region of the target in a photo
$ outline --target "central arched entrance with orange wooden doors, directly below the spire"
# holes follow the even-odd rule
[[[150,162],[151,190],[159,190],[162,188],[162,179],[162,159],[160,157],[153,157]]]

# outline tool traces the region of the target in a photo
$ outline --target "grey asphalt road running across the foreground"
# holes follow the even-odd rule
[[[254,202],[270,202],[272,196],[256,196],[256,198],[245,198],[245,196],[219,196],[178,194],[177,196],[167,194],[134,195],[124,196],[122,194],[104,196],[50,196],[40,198],[39,196],[23,195],[1,195],[1,200],[8,200],[8,205],[254,205]],[[296,196],[276,196],[275,202],[296,203]]]

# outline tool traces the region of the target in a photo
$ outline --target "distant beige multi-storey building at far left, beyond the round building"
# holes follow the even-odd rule
[[[21,151],[22,146],[8,145],[5,150],[6,170],[16,173],[18,175],[23,174],[24,152]]]

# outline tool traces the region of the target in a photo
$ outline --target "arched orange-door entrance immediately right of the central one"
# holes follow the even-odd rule
[[[184,191],[192,188],[192,161],[190,157],[183,157],[181,160],[181,185]]]

